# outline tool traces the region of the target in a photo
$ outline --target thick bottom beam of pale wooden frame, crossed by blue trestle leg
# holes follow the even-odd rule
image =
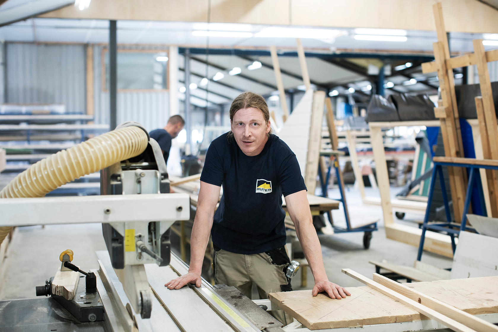
[[[414,247],[419,246],[421,234],[422,229],[400,223],[393,223],[385,226],[385,236],[387,238],[410,244]],[[458,239],[456,238],[455,241],[457,240]],[[456,243],[458,243],[458,241]],[[446,234],[436,233],[430,230],[425,232],[424,250],[450,258],[453,257],[450,237]]]

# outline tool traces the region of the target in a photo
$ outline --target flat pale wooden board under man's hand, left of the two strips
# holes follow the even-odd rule
[[[427,319],[370,287],[348,287],[351,296],[333,300],[310,290],[270,293],[272,303],[310,330],[361,327]]]

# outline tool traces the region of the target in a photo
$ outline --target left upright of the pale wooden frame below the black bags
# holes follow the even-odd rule
[[[387,164],[385,162],[384,144],[382,139],[382,130],[380,130],[380,127],[370,127],[370,137],[372,142],[373,158],[375,160],[375,171],[377,174],[377,185],[380,193],[380,205],[382,206],[384,225],[390,225],[394,223],[394,218],[392,217],[389,173],[387,172]]]

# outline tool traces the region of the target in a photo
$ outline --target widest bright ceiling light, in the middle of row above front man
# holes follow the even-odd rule
[[[334,39],[343,34],[346,34],[346,31],[333,29],[284,28],[278,26],[269,26],[255,33],[254,37]]]

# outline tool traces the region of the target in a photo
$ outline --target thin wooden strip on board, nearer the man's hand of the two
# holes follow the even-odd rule
[[[349,275],[350,277],[353,277],[356,280],[363,282],[367,286],[372,287],[374,290],[376,290],[384,295],[387,295],[391,299],[393,299],[395,301],[399,301],[400,303],[404,304],[408,308],[411,308],[411,309],[419,312],[420,314],[425,315],[425,316],[437,321],[438,323],[444,324],[446,327],[452,329],[453,331],[475,332],[475,330],[463,325],[462,323],[459,323],[459,322],[457,322],[449,317],[446,317],[445,315],[440,314],[433,309],[430,309],[426,306],[423,306],[420,303],[413,301],[404,295],[398,294],[398,293],[390,290],[389,288],[387,288],[383,285],[380,285],[379,283],[374,282],[373,280],[366,278],[363,275],[361,275],[361,274],[359,274],[351,269],[343,269],[342,271],[344,273],[346,273],[347,275]]]

